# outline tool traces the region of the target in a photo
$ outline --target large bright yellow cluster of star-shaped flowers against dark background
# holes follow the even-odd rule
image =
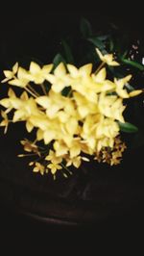
[[[125,89],[131,75],[108,80],[104,64],[118,63],[111,54],[103,56],[96,51],[102,64],[95,72],[92,64],[77,68],[60,63],[54,68],[53,64],[40,67],[34,62],[29,70],[16,63],[12,71],[4,71],[6,78],[2,82],[24,91],[16,96],[10,88],[8,97],[0,100],[6,109],[0,125],[5,126],[6,132],[9,122],[25,121],[28,132],[36,128],[36,141],[50,145],[40,164],[42,153],[36,141],[21,141],[25,151],[39,155],[39,162],[30,163],[35,165],[35,172],[51,170],[55,175],[63,166],[79,167],[83,160],[88,161],[88,155],[96,157],[102,149],[113,148],[120,134],[118,121],[125,122],[123,100],[141,90],[129,93]]]

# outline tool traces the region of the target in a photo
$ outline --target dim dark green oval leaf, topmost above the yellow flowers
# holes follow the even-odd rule
[[[92,36],[92,29],[89,21],[84,17],[81,19],[80,31],[84,38],[89,38]]]

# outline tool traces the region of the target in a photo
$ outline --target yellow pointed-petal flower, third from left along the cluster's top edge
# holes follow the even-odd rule
[[[36,85],[42,84],[46,76],[51,72],[52,68],[53,64],[45,64],[41,68],[38,64],[32,62],[29,69],[31,81]]]

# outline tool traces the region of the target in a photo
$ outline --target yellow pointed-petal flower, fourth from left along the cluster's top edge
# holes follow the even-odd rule
[[[52,90],[60,92],[70,85],[70,79],[66,74],[66,68],[60,63],[54,70],[54,74],[46,75],[46,80],[52,84]]]

